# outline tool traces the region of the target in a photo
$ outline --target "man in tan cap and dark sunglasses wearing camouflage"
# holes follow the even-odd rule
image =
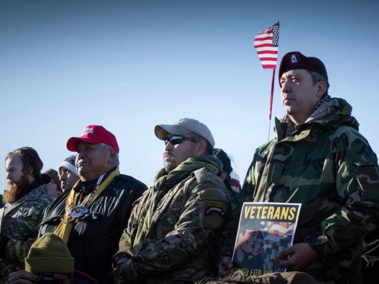
[[[154,132],[165,143],[165,167],[135,203],[114,255],[114,281],[193,284],[217,274],[230,194],[208,127],[183,118]]]

